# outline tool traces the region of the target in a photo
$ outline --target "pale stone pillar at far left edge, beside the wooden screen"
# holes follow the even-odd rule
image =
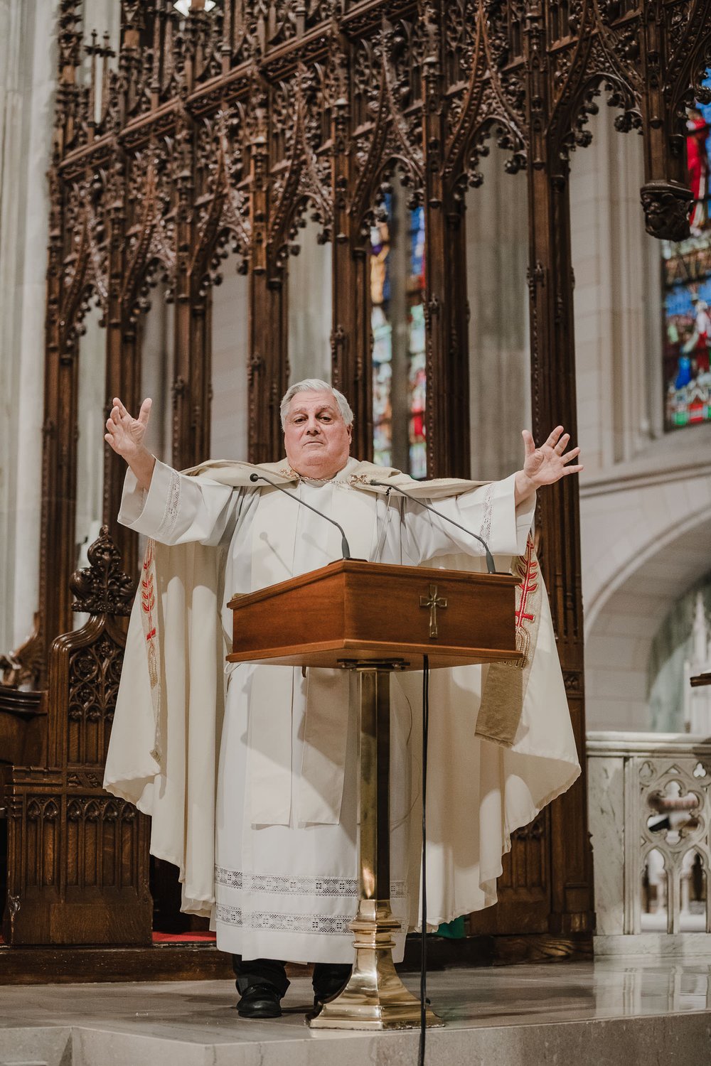
[[[56,0],[0,0],[0,648],[37,609]]]

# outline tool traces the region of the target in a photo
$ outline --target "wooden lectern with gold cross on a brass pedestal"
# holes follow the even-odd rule
[[[230,662],[354,669],[360,697],[360,900],[348,985],[312,1029],[409,1029],[420,1002],[392,962],[390,909],[390,674],[511,660],[515,594],[508,574],[467,574],[340,560],[235,596]],[[437,709],[433,709],[437,713]],[[427,1024],[441,1024],[432,1011]]]

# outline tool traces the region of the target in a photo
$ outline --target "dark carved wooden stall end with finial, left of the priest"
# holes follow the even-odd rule
[[[134,582],[107,527],[88,560],[71,581],[88,621],[49,653],[46,759],[0,768],[11,946],[150,943],[148,819],[101,788]]]

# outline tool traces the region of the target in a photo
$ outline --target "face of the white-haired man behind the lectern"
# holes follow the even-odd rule
[[[351,451],[346,426],[330,392],[296,392],[289,404],[284,443],[292,470],[307,478],[333,478]]]

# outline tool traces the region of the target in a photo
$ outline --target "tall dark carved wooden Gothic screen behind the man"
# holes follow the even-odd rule
[[[189,466],[209,440],[211,285],[224,252],[237,251],[249,279],[248,457],[273,459],[289,375],[286,263],[308,210],[330,242],[333,379],[353,402],[355,450],[367,457],[369,235],[395,172],[424,209],[429,474],[469,473],[466,271],[475,264],[465,258],[464,190],[481,180],[489,138],[508,169],[528,174],[534,434],[563,422],[575,437],[568,156],[588,142],[585,124],[602,92],[620,132],[644,136],[648,230],[683,235],[683,111],[706,66],[708,2],[219,0],[182,19],[169,0],[123,0],[115,69],[84,86],[79,7],[61,0],[50,174],[45,647],[69,628],[77,337],[88,303],[103,313],[106,394],[135,408],[140,316],[151,284],[168,287],[173,459]],[[107,451],[103,518],[131,571],[135,544],[114,526],[122,478]],[[545,494],[536,528],[582,752],[573,479]],[[537,931],[591,928],[584,779],[519,835],[501,907],[478,921],[514,932],[523,914]]]

